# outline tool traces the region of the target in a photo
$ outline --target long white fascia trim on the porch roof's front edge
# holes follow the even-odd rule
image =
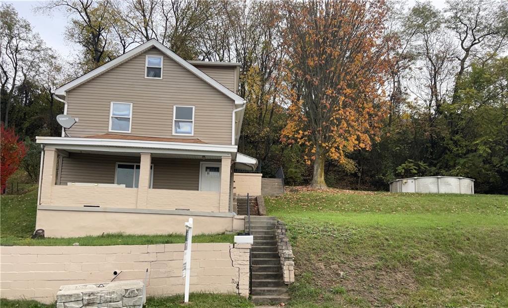
[[[116,137],[114,139],[105,137],[96,138],[96,136],[90,137],[74,138],[37,136],[36,140],[37,143],[43,144],[45,146],[60,150],[66,150],[69,152],[96,152],[109,155],[139,155],[139,153],[153,153],[159,155],[215,158],[221,156],[230,156],[235,159],[237,152],[236,145],[118,139]]]

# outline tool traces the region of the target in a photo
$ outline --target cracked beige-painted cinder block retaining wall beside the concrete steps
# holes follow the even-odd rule
[[[147,296],[183,293],[183,244],[1,247],[2,298],[56,300],[62,285],[144,280]],[[249,292],[248,244],[192,245],[191,292]]]

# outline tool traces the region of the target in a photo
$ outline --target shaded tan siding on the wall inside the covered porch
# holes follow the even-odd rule
[[[62,161],[60,185],[68,182],[115,182],[116,163],[138,163],[139,157],[70,153]],[[211,162],[211,161],[210,161]],[[154,189],[199,190],[200,161],[152,158]]]

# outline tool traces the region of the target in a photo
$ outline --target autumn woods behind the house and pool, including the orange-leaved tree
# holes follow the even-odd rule
[[[508,193],[506,2],[58,0],[38,12],[67,14],[80,53],[61,57],[2,5],[1,119],[26,138],[32,174],[30,140],[60,133],[51,90],[155,38],[185,59],[241,63],[239,151],[266,176],[282,166],[287,184],[309,184],[318,161],[331,187],[452,175]]]

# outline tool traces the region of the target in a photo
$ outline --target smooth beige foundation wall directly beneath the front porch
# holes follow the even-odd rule
[[[36,229],[48,237],[75,237],[103,233],[168,234],[185,232],[183,225],[194,219],[194,234],[243,230],[243,216],[212,217],[139,212],[105,212],[38,209]]]

